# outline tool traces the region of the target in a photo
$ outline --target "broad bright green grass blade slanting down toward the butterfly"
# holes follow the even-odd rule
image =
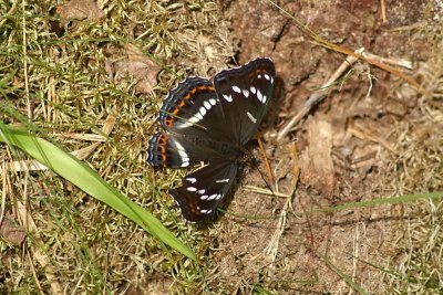
[[[6,125],[0,126],[0,141],[16,146],[28,152],[32,158],[45,165],[49,169],[69,180],[84,192],[133,220],[165,244],[185,256],[196,260],[194,252],[175,238],[159,220],[120,193],[102,179],[97,172],[71,154],[42,138],[11,129]]]

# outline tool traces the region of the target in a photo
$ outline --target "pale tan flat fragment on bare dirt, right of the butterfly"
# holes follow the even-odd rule
[[[330,196],[336,187],[331,157],[332,127],[318,118],[308,125],[308,146],[300,157],[301,182]]]

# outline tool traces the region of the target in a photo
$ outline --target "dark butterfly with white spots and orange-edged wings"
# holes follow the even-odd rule
[[[163,130],[148,140],[147,162],[171,168],[204,162],[169,190],[188,222],[210,215],[233,187],[275,82],[272,60],[259,57],[220,71],[212,81],[188,76],[167,94],[158,116]]]

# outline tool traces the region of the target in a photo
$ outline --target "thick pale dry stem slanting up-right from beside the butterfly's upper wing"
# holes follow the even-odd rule
[[[356,53],[358,56],[360,56],[363,51],[364,49],[361,48],[357,50]],[[350,65],[359,60],[358,56],[349,55],[344,60],[344,62],[342,62],[341,65],[336,70],[336,72],[329,77],[329,80],[320,87],[320,89],[309,96],[308,101],[305,103],[300,112],[298,112],[297,115],[293,116],[291,120],[278,133],[277,141],[281,141],[281,139],[293,128],[293,126],[299,123],[300,119],[303,118],[312,109],[313,106],[319,104],[324,98],[332,83],[337,81]]]

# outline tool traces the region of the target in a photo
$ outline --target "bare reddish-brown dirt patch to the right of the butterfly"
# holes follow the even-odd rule
[[[239,40],[241,63],[261,55],[275,61],[278,103],[269,112],[277,116],[270,120],[279,124],[268,125],[271,136],[344,56],[310,42],[289,18],[264,2],[230,1],[225,13]],[[426,18],[426,1],[388,1],[387,22],[381,19],[380,1],[281,2],[282,9],[330,42],[412,61],[414,70],[405,72],[419,82],[421,62],[433,54],[427,40],[416,33],[418,23]],[[395,175],[387,164],[396,155],[395,125],[420,116],[415,112],[420,95],[405,82],[364,63],[358,63],[341,83],[289,137],[266,144],[275,185],[286,198],[248,187],[268,188],[259,172],[265,170],[262,161],[258,169],[245,169],[228,210],[279,218],[230,218],[212,231],[212,259],[220,273],[214,286],[229,285],[234,291],[257,282],[280,294],[346,294],[350,287],[333,271],[334,265],[372,294],[392,292],[387,288],[385,274],[370,265],[383,267],[392,259],[387,253],[398,239],[395,222],[404,218],[395,206],[333,213],[312,210],[399,192],[390,186]]]

